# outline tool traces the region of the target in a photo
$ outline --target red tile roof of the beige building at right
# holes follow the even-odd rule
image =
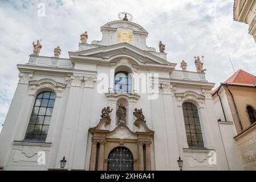
[[[230,76],[223,84],[231,86],[254,87],[255,81],[256,77],[254,75],[251,75],[250,73],[247,73],[242,69],[239,69],[237,72],[234,73],[234,75]],[[220,86],[213,91],[212,95],[216,94],[219,88]]]

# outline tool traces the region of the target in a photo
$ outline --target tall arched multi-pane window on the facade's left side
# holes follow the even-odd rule
[[[46,140],[54,102],[55,93],[41,92],[36,96],[25,140]]]

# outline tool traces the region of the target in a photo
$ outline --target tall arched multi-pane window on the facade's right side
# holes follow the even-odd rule
[[[184,102],[182,108],[189,147],[204,147],[197,106],[190,102]]]

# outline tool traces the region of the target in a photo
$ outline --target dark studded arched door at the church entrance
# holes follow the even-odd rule
[[[116,147],[108,155],[108,171],[133,171],[132,152],[125,147]]]

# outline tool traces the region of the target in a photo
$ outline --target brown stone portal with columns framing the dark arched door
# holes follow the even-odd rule
[[[135,171],[150,171],[151,144],[155,132],[148,129],[144,121],[135,121],[135,127],[138,129],[135,133],[125,125],[119,125],[114,130],[109,131],[107,125],[110,124],[110,121],[109,118],[101,119],[97,126],[89,129],[92,134],[90,170],[107,170],[109,153],[116,147],[125,147],[133,155],[133,169]]]

